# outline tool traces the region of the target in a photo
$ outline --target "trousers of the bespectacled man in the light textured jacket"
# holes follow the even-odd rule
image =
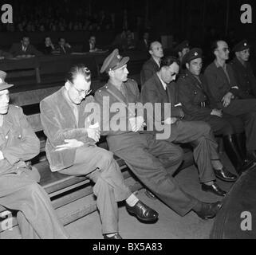
[[[88,165],[94,166],[94,169],[97,168],[86,177],[95,182],[93,192],[96,195],[96,205],[100,212],[102,232],[115,233],[118,231],[117,202],[127,199],[132,192],[125,185],[120,167],[113,159],[112,152],[93,147],[91,153],[93,159],[86,157],[83,148],[77,150],[73,167],[61,171],[61,174],[83,175],[84,172],[85,175],[88,172]]]

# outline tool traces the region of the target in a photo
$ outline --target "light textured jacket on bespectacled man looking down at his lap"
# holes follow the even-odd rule
[[[95,143],[88,137],[85,128],[85,121],[91,115],[91,112],[85,112],[85,107],[89,103],[94,103],[93,96],[86,97],[77,106],[77,123],[73,109],[65,99],[64,90],[65,87],[61,88],[40,103],[41,124],[47,136],[45,151],[51,171],[60,171],[74,163],[76,148],[56,151],[57,145],[65,144],[65,139],[77,139],[85,143],[85,146]]]

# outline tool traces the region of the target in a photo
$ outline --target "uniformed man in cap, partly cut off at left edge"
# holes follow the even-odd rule
[[[68,238],[57,218],[34,167],[26,161],[40,149],[39,139],[22,108],[10,105],[6,73],[0,71],[0,205],[17,210],[18,226],[25,239]]]

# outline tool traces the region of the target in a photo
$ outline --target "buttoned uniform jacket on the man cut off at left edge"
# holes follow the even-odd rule
[[[0,160],[0,176],[6,173],[17,173],[26,167],[26,161],[38,155],[40,142],[33,132],[22,108],[9,106],[0,128],[0,151],[4,159]]]

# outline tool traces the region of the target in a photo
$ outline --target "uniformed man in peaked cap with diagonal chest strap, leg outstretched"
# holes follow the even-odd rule
[[[140,131],[143,112],[136,115],[128,107],[129,103],[137,104],[140,100],[136,81],[128,79],[128,61],[128,57],[121,57],[115,49],[100,69],[100,73],[108,73],[109,80],[96,91],[95,99],[100,104],[101,132],[108,135],[110,151],[124,159],[136,177],[179,215],[194,210],[201,218],[215,217],[220,202],[199,202],[183,192],[171,177],[183,160],[181,148],[163,139],[156,140],[154,134],[144,132],[143,128]]]

